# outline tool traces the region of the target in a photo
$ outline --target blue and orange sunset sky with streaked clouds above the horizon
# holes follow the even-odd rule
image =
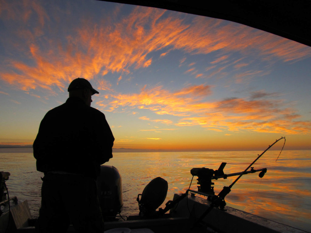
[[[245,25],[102,1],[0,0],[0,144],[32,144],[75,78],[114,148],[311,149],[311,47]]]

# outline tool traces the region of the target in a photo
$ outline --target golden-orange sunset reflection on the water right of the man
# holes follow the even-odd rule
[[[268,152],[253,165],[255,169],[267,168],[265,176],[259,178],[258,173],[242,176],[226,196],[227,205],[310,231],[311,152],[283,151],[276,162],[279,151]],[[254,151],[163,152],[156,156],[152,153],[115,153],[114,160],[109,163],[122,173],[123,187],[127,187],[128,174],[136,177],[137,186],[132,190],[136,193],[142,193],[145,185],[157,176],[167,180],[169,189],[166,203],[173,198],[174,193],[184,193],[189,188],[192,168],[206,167],[216,170],[221,162],[227,162],[225,174],[241,172],[257,158],[257,154]],[[127,163],[123,164],[125,159]],[[135,169],[140,162],[140,169]],[[215,193],[218,194],[236,178],[237,176],[233,176],[214,180]],[[190,187],[193,190],[197,190],[196,179],[194,177]],[[134,195],[133,192],[126,194],[135,197],[138,193]],[[132,209],[138,211],[137,203],[132,204]]]

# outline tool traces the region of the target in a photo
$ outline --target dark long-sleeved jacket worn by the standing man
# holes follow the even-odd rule
[[[114,136],[99,110],[70,97],[41,121],[34,157],[41,172],[65,171],[94,177],[112,158]]]

